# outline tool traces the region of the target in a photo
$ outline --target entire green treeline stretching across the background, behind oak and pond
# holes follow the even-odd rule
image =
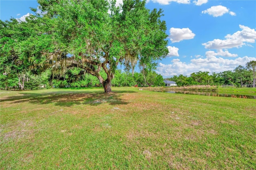
[[[254,63],[255,61],[252,61]],[[248,62],[250,63],[250,62]],[[249,65],[249,64],[247,64]],[[103,78],[106,78],[104,71],[100,72]],[[20,77],[1,75],[0,76],[0,88],[20,89]],[[100,87],[102,86],[95,76],[90,74],[84,74],[80,68],[73,68],[66,72],[65,75],[54,75],[51,70],[47,70],[35,76],[32,72],[27,72],[22,78],[24,80],[24,89],[35,90],[38,88],[80,88],[80,87]],[[250,67],[238,66],[234,70],[224,71],[220,73],[209,72],[194,72],[190,76],[173,76],[171,78],[165,78],[165,80],[171,80],[176,82],[178,86],[191,86],[191,85],[232,85],[236,87],[253,87],[255,81],[255,66],[254,69]],[[112,79],[112,86],[165,86],[164,78],[162,75],[157,74],[154,71],[142,70],[141,72],[134,72],[132,74],[130,70],[121,72],[116,70],[115,76]]]

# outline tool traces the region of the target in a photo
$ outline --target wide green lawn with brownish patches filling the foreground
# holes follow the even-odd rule
[[[256,169],[256,100],[112,90],[0,91],[0,169]]]

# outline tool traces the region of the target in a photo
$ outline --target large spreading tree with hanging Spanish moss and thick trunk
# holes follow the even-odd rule
[[[120,7],[106,0],[38,3],[44,14],[30,16],[26,22],[1,21],[9,32],[16,31],[11,25],[17,26],[18,32],[22,30],[16,36],[1,31],[6,37],[1,39],[7,56],[4,62],[20,60],[20,66],[35,73],[50,69],[53,77],[80,68],[81,73],[96,76],[105,92],[111,92],[118,64],[134,70],[138,62],[142,69],[151,69],[156,60],[168,54],[166,23],[160,20],[162,10],[146,9],[146,1],[124,0]],[[13,42],[18,42],[20,48],[16,49]]]

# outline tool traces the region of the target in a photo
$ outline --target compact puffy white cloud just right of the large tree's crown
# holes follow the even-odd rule
[[[192,39],[195,35],[189,28],[170,28],[169,38],[172,42],[180,42]]]

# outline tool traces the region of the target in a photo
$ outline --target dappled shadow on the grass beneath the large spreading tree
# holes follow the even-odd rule
[[[21,92],[22,96],[10,96],[1,99],[1,102],[10,104],[21,104],[29,102],[31,104],[54,104],[56,106],[70,107],[73,105],[87,104],[97,106],[103,103],[110,105],[128,104],[122,99],[123,93],[134,93],[134,91],[118,91],[112,93],[91,92],[91,91],[55,91],[42,93]]]

